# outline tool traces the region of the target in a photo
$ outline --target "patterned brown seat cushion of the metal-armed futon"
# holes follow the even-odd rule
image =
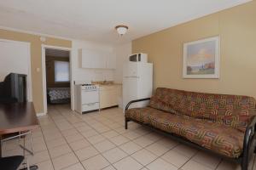
[[[128,110],[125,116],[167,133],[177,134],[224,156],[237,158],[242,152],[244,133],[218,122],[178,116],[150,107]]]

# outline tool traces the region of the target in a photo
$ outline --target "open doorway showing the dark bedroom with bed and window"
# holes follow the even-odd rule
[[[44,114],[48,105],[71,107],[71,50],[42,46]]]

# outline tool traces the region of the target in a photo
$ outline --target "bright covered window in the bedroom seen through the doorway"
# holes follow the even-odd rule
[[[55,82],[69,82],[68,61],[55,61]]]

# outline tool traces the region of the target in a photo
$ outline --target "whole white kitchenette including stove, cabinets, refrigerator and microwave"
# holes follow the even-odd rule
[[[131,54],[131,44],[119,48],[88,48],[75,44],[72,57],[73,110],[84,114],[112,107],[125,109],[132,99],[148,98],[153,90],[153,64],[148,54]],[[137,103],[131,107],[143,106]]]

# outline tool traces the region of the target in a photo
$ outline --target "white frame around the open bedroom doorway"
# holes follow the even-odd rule
[[[63,48],[59,46],[51,46],[51,45],[45,45],[42,44],[42,75],[43,75],[43,97],[44,97],[44,112],[42,115],[47,114],[47,85],[46,85],[46,68],[45,68],[45,49],[50,48],[50,49],[59,49],[59,50],[64,50],[69,52],[69,76],[70,76],[70,101],[71,101],[71,108],[73,108],[73,90],[72,90],[72,48]]]

